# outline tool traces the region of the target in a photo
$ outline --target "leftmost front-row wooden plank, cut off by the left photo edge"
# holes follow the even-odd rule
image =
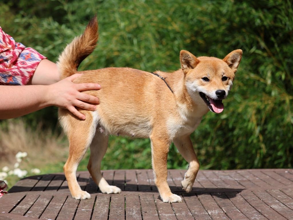
[[[0,214],[8,213],[25,198],[24,193],[9,193],[1,197]]]

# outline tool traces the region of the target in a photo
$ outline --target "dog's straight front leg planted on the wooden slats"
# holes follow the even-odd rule
[[[167,183],[167,157],[170,141],[161,136],[151,136],[151,155],[155,184],[163,202],[182,202],[180,196],[173,194]]]

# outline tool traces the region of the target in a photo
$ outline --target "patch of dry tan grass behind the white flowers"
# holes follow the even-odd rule
[[[41,173],[62,172],[66,161],[68,143],[64,134],[57,135],[52,130],[42,130],[41,124],[35,130],[27,127],[23,120],[7,120],[0,127],[0,171],[8,166],[13,169],[18,151],[27,152],[21,162],[22,170],[38,168]],[[14,178],[9,185],[14,184]]]

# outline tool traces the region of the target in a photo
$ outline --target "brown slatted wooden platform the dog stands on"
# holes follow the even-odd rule
[[[168,183],[182,203],[164,203],[152,170],[107,170],[121,194],[102,194],[88,172],[78,181],[92,199],[72,199],[63,174],[27,177],[0,199],[0,219],[264,220],[293,219],[293,170],[200,170],[191,193],[181,189],[185,170],[169,170]],[[25,217],[26,216],[26,217]]]

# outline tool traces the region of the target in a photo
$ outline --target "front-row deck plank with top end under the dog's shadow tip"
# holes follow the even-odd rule
[[[226,192],[226,196],[248,219],[267,220],[265,216],[255,210],[243,197],[237,192]]]

